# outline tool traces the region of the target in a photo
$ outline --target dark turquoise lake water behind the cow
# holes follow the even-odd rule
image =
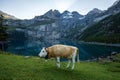
[[[79,48],[79,56],[80,60],[88,60],[92,58],[105,57],[111,54],[111,52],[119,52],[120,47],[113,46],[103,46],[103,45],[93,45],[93,44],[85,44],[77,41],[71,40],[11,40],[9,42],[9,46],[7,51],[12,52],[18,55],[25,56],[37,56],[42,47],[49,47],[54,44],[64,44],[64,45],[72,45]]]

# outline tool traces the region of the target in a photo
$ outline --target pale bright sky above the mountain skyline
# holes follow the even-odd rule
[[[19,19],[31,19],[50,9],[78,11],[85,15],[93,8],[106,10],[116,0],[0,0],[0,10]]]

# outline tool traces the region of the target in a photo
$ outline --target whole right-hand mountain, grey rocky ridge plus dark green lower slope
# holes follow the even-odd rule
[[[93,20],[94,24],[77,34],[76,39],[88,42],[120,43],[120,0],[105,11],[94,9],[85,17],[88,22]]]

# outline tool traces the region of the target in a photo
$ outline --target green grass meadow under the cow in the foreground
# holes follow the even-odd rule
[[[114,63],[96,62],[76,63],[75,69],[66,69],[67,62],[56,68],[55,60],[38,57],[25,58],[0,52],[0,80],[120,80],[118,71],[111,71]]]

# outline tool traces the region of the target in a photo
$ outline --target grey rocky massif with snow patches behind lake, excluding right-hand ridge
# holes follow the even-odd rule
[[[64,11],[60,14],[58,10],[49,10],[44,15],[35,16],[33,19],[9,21],[9,26],[14,26],[15,30],[24,31],[32,37],[59,39],[61,36],[62,38],[68,36],[68,32],[75,29],[76,22],[81,17],[83,15],[76,11]]]

